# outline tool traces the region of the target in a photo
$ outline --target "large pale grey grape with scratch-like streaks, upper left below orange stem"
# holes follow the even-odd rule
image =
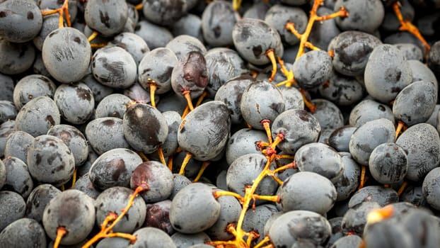
[[[88,4],[88,6],[91,4]],[[75,28],[57,28],[42,44],[42,61],[54,79],[69,84],[86,76],[91,47],[86,35]]]

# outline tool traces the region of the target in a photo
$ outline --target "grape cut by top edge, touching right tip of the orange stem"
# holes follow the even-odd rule
[[[363,1],[359,3],[356,0],[337,0],[335,11],[344,6],[349,13],[348,17],[337,17],[336,23],[342,30],[360,30],[372,33],[378,28],[385,15],[383,4],[380,0]]]

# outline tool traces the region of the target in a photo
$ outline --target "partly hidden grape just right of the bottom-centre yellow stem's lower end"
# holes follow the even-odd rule
[[[253,244],[257,244],[267,235],[265,225],[269,222],[269,219],[277,213],[280,212],[272,204],[257,205],[255,210],[249,209],[246,211],[243,220],[243,230],[245,230],[245,232],[254,231],[260,235],[258,239],[253,240]]]

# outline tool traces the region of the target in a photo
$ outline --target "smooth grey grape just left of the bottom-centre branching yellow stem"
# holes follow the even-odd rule
[[[212,227],[219,219],[221,204],[212,188],[195,183],[182,188],[173,198],[170,222],[178,232],[195,234]]]

